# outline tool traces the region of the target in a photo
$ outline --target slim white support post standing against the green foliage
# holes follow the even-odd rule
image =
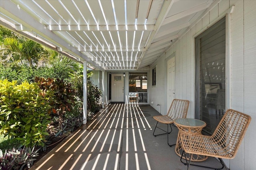
[[[83,79],[83,124],[87,123],[87,61],[83,61],[84,66],[84,79]]]

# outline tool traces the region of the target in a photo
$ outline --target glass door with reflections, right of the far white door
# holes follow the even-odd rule
[[[148,77],[146,72],[129,73],[129,102],[148,103]]]

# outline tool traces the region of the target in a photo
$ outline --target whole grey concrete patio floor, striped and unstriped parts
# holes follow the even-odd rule
[[[30,170],[186,170],[167,135],[152,135],[154,115],[159,113],[149,105],[109,104]],[[172,129],[169,142],[176,143],[178,129]],[[212,157],[200,164],[221,167]]]

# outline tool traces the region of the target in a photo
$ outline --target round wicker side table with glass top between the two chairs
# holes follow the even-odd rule
[[[182,133],[201,135],[202,129],[206,126],[206,123],[202,120],[192,119],[192,118],[179,118],[174,120],[174,124],[179,129],[178,138],[176,142],[175,152],[178,156],[182,156],[182,146],[180,142],[180,135]],[[200,162],[204,161],[208,158],[208,156],[199,155],[199,154],[191,154],[191,161]],[[185,156],[182,157],[186,159]],[[184,162],[182,162],[184,163]]]

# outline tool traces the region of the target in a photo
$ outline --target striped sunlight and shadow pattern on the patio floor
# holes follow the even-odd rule
[[[142,137],[146,130],[152,131],[152,127],[139,105],[109,104],[33,168],[151,169]]]

